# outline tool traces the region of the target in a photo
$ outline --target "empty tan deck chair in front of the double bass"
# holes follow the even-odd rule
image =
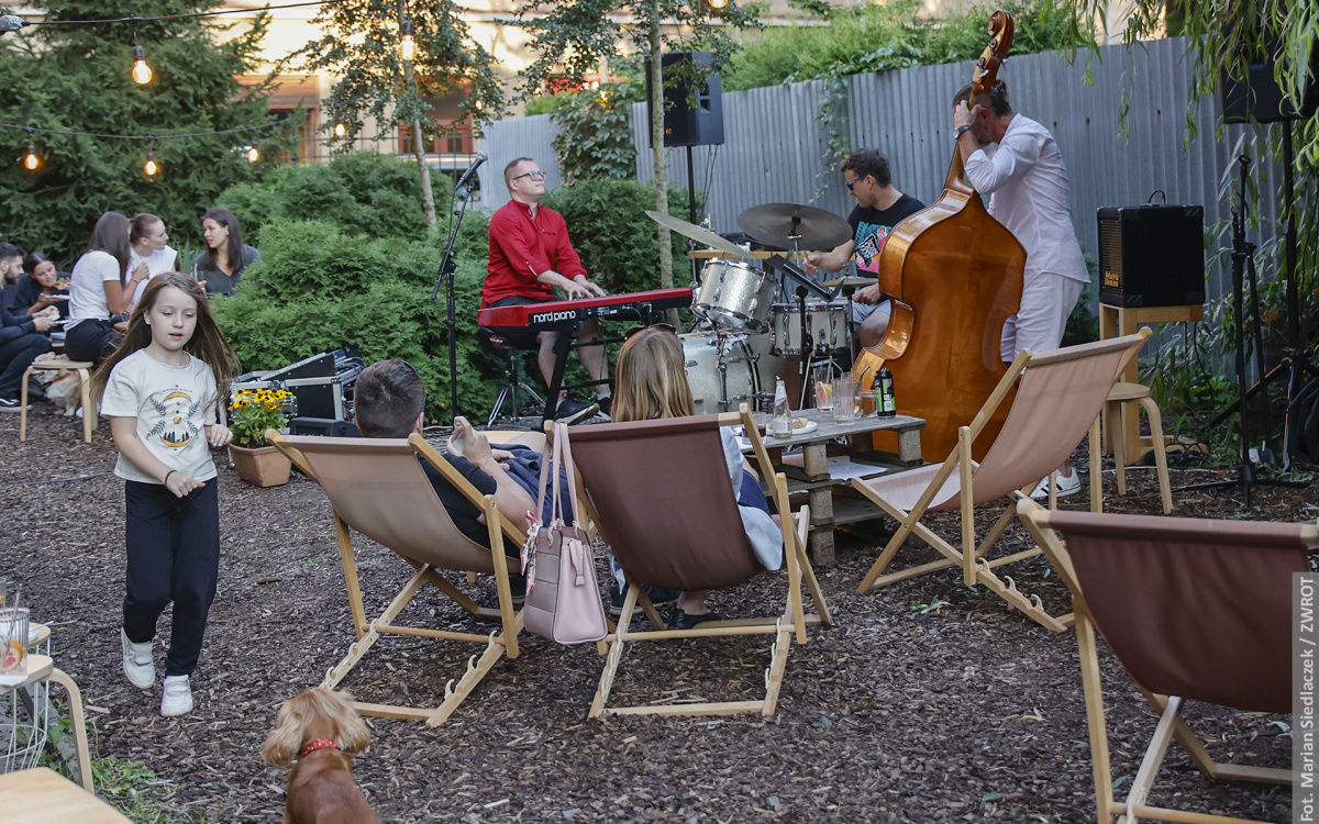
[[[1136,335],[1039,355],[1022,349],[989,399],[976,413],[971,426],[958,430],[958,446],[942,464],[882,475],[868,481],[852,481],[857,490],[898,521],[897,531],[861,580],[861,585],[856,588],[857,593],[907,577],[962,567],[966,585],[983,584],[1041,625],[1054,632],[1063,632],[1067,616],[1060,618],[1050,616],[1039,596],[1026,597],[1017,589],[1012,577],[998,577],[995,574],[997,567],[1039,554],[1039,548],[1035,547],[989,559],[989,550],[1012,523],[1016,501],[1006,506],[979,546],[976,546],[975,508],[1010,496],[1018,489],[1029,494],[1039,479],[1067,460],[1087,430],[1089,465],[1100,467],[1099,413],[1108,399],[1108,390],[1117,380],[1117,368],[1122,357],[1128,352],[1138,351],[1149,335],[1146,327]],[[971,459],[975,440],[1014,385],[1017,397],[1012,402],[1002,430],[984,460],[977,464]],[[1103,506],[1100,480],[1100,472],[1092,469],[1089,501],[1096,512]],[[1050,500],[1054,500],[1053,489]],[[943,509],[962,512],[960,547],[952,546],[921,522],[925,513]],[[893,556],[910,534],[929,543],[944,558],[885,575]]]

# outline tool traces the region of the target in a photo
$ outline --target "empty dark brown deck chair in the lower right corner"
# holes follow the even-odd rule
[[[1290,770],[1215,762],[1186,701],[1291,712],[1291,574],[1308,572],[1314,523],[1047,512],[1018,514],[1072,595],[1099,821],[1241,821],[1149,806],[1177,738],[1210,780],[1291,784]],[[1058,530],[1066,539],[1054,533]],[[1159,715],[1125,800],[1113,799],[1095,630]]]

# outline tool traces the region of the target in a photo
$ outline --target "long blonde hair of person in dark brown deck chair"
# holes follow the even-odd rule
[[[621,422],[696,414],[685,363],[682,341],[669,330],[649,327],[629,338],[615,368],[611,418]]]

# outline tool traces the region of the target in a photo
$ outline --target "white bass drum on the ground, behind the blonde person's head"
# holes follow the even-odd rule
[[[687,385],[698,415],[756,411],[756,394],[774,392],[782,359],[769,351],[769,335],[692,332],[679,335]]]

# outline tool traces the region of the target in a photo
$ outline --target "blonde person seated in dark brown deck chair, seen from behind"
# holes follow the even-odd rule
[[[687,385],[682,341],[673,328],[652,326],[632,335],[619,352],[615,367],[613,419],[650,421],[696,414]],[[769,514],[769,502],[751,465],[743,460],[737,438],[728,427],[719,430],[728,463],[728,480],[737,497],[737,512],[756,558],[766,570],[783,563],[783,538]],[[691,629],[703,621],[721,621],[706,606],[706,593],[685,592],[678,599],[673,625]]]

